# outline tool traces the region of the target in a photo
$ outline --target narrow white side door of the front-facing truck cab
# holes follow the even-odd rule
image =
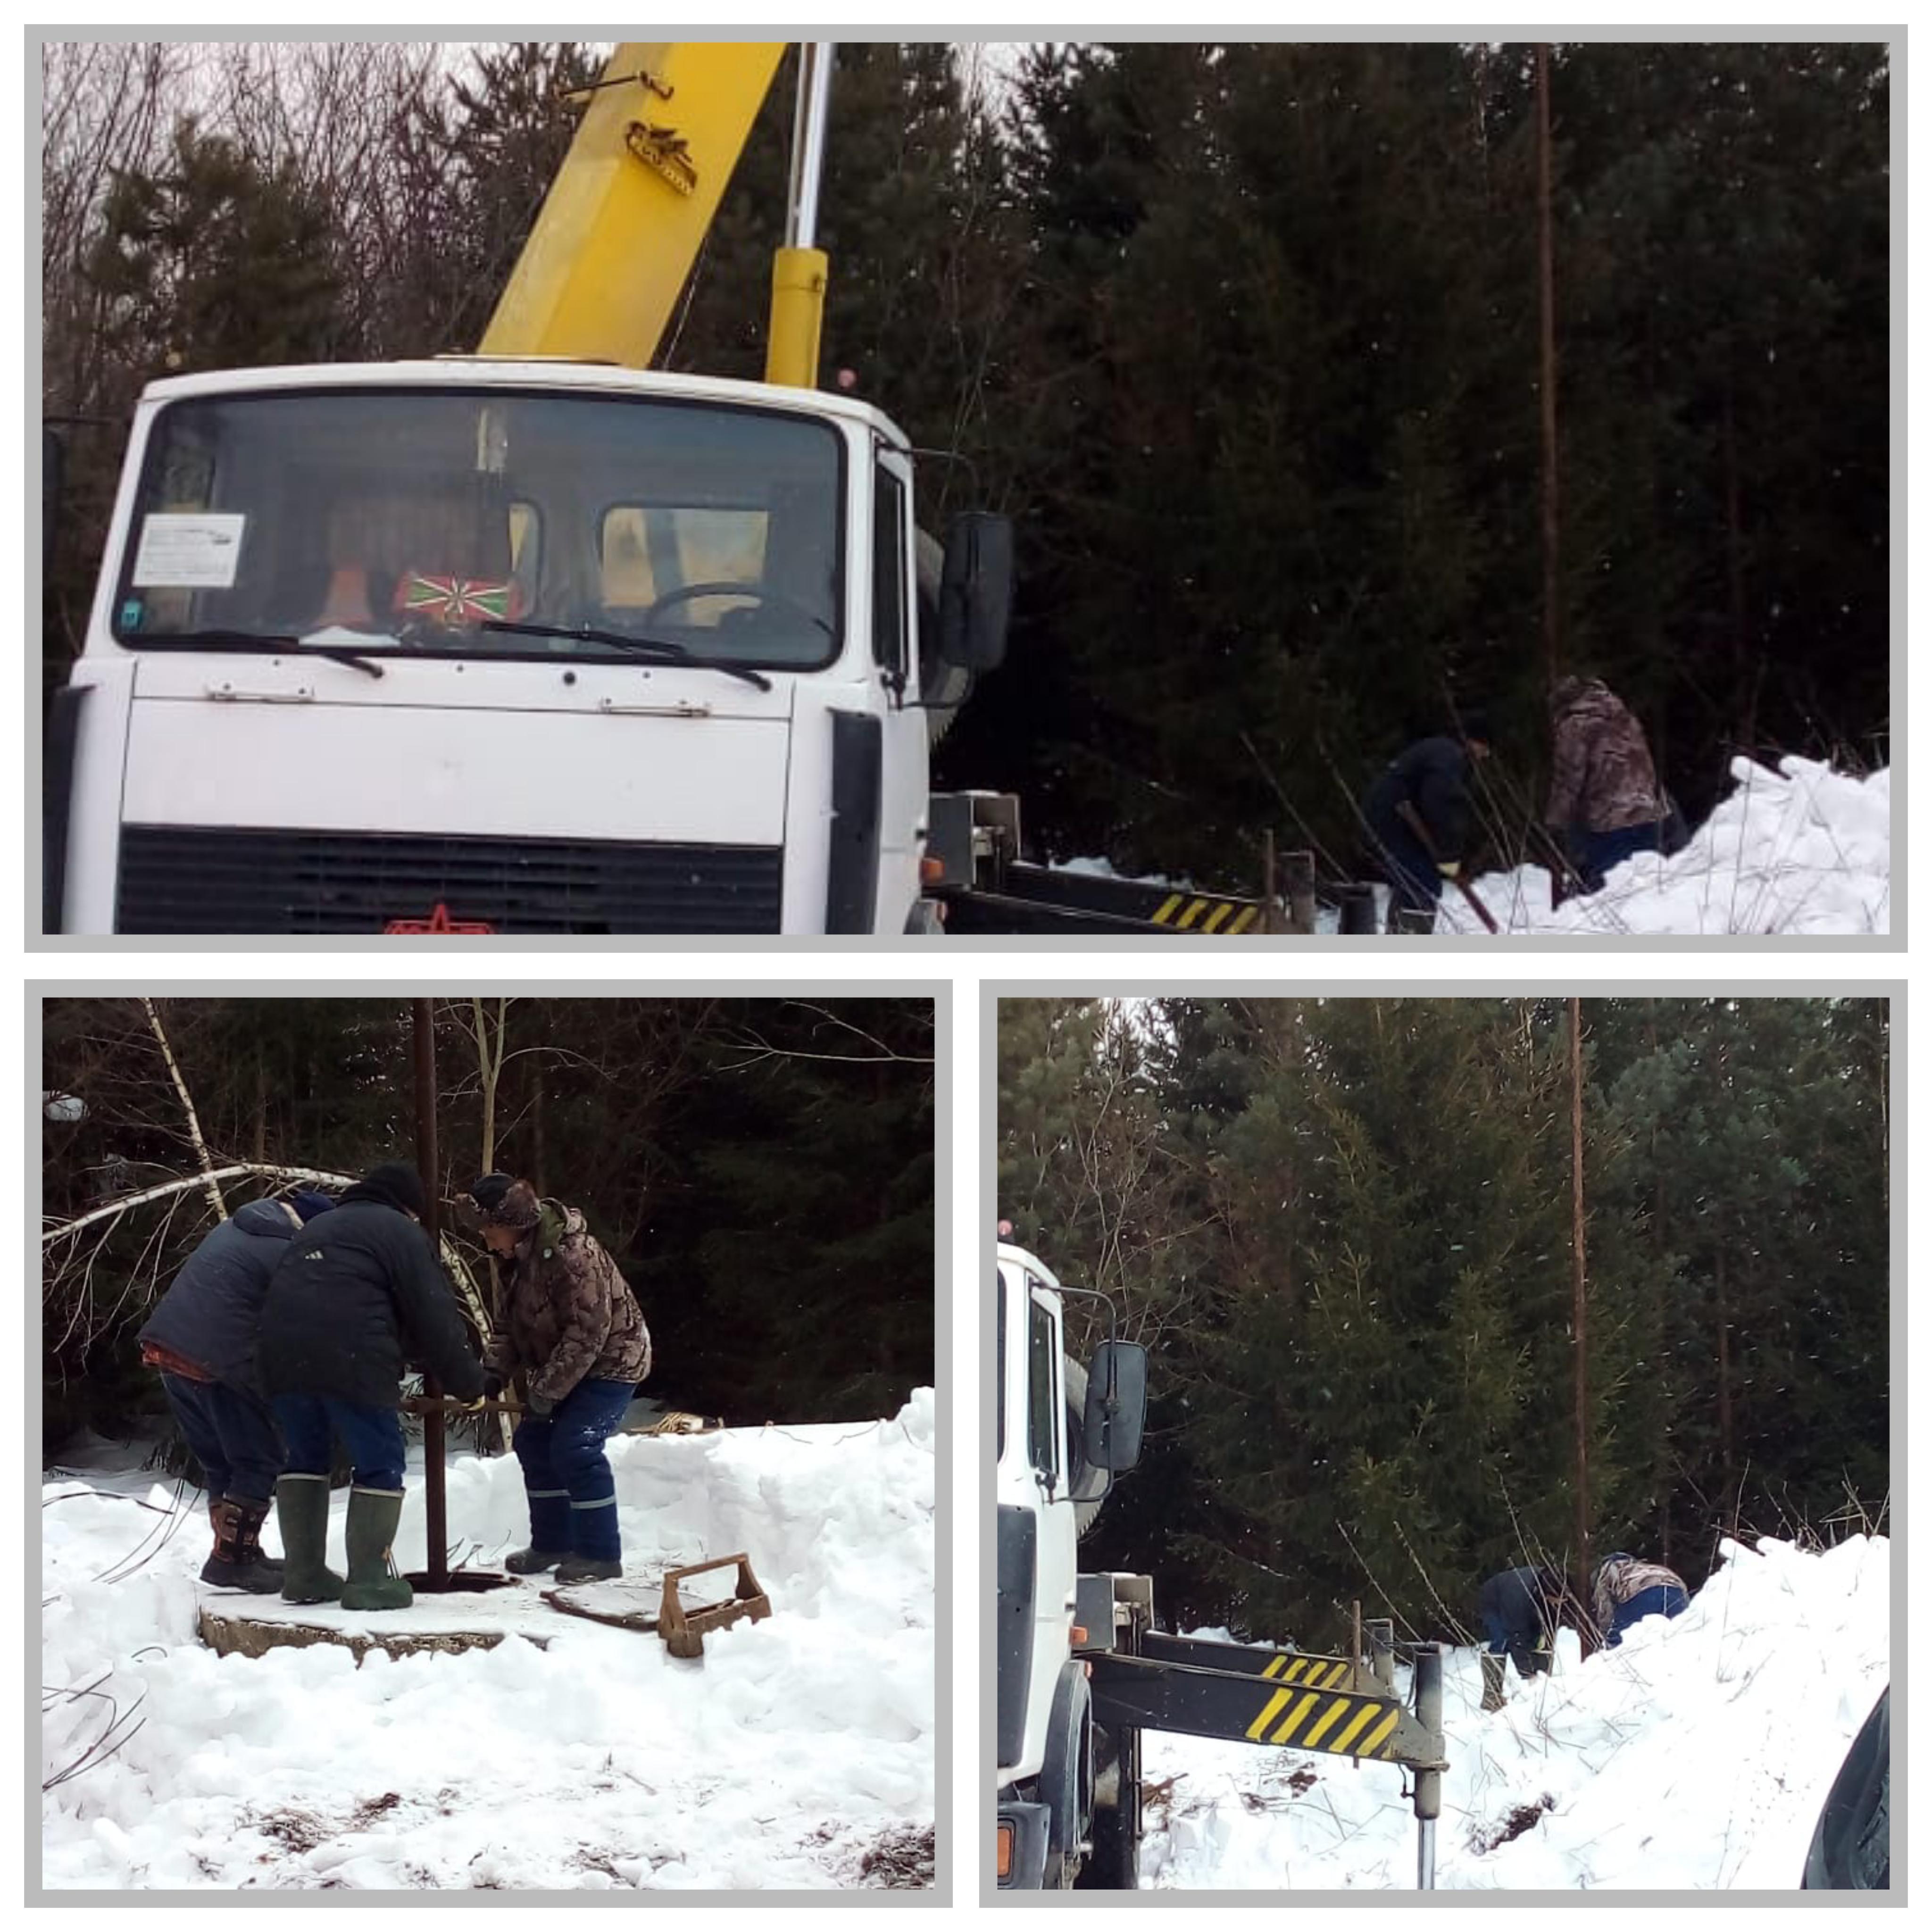
[[[896,933],[920,889],[927,736],[914,661],[912,466],[881,448],[873,469],[871,659],[883,711],[879,931]]]

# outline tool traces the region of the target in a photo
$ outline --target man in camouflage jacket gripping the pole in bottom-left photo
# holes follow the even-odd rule
[[[508,1271],[485,1366],[491,1393],[522,1376],[516,1457],[529,1495],[529,1548],[504,1567],[558,1582],[622,1575],[616,1482],[605,1441],[651,1372],[651,1335],[616,1262],[562,1202],[527,1180],[469,1188],[483,1240]]]

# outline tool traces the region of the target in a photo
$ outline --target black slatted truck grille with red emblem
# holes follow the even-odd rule
[[[775,933],[781,846],[126,825],[122,933]]]

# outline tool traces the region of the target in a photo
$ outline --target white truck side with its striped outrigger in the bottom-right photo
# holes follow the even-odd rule
[[[1136,1889],[1140,1735],[1182,1731],[1403,1768],[1416,1882],[1430,1889],[1447,1770],[1441,1646],[1405,1652],[1405,1696],[1385,1619],[1358,1619],[1352,1656],[1208,1642],[1153,1629],[1150,1577],[1082,1575],[1078,1538],[1140,1455],[1146,1350],[1119,1339],[1103,1294],[1065,1287],[1005,1240],[995,1294],[999,1888]],[[1065,1354],[1068,1294],[1107,1312],[1084,1370]]]

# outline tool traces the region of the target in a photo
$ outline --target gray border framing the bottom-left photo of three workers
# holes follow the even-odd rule
[[[79,983],[56,983],[46,980],[29,980],[23,985],[25,999],[25,1057],[29,1066],[39,1068],[41,1063],[41,1012],[43,1001],[46,999],[116,999],[116,997],[139,997],[143,989],[129,987],[126,981],[106,980],[106,981],[79,981]],[[164,985],[151,985],[155,997],[166,993],[168,999],[421,999],[425,987],[408,985],[394,980],[371,980],[367,983],[357,981],[299,981],[299,980],[269,980],[269,981],[216,981],[205,976],[195,980],[184,980],[180,983],[166,981]],[[605,980],[585,980],[582,983],[556,985],[535,985],[526,976],[506,978],[502,974],[477,974],[468,991],[479,993],[483,997],[497,995],[516,995],[531,999],[840,999],[840,997],[879,997],[879,999],[923,999],[933,1003],[933,1884],[920,1891],[873,1891],[856,1888],[835,1888],[827,1891],[792,1891],[792,1889],[771,1889],[771,1891],[676,1891],[676,1893],[655,1893],[655,1891],[469,1891],[469,1889],[437,1889],[437,1891],[371,1891],[355,1893],[350,1903],[371,1903],[371,1905],[421,1905],[421,1907],[524,1907],[524,1905],[570,1905],[570,1907],[622,1907],[628,1911],[649,1909],[651,1905],[672,1907],[690,1901],[694,1905],[738,1905],[738,1907],[763,1907],[771,1905],[833,1905],[840,1909],[914,1909],[914,1911],[943,1911],[952,1905],[954,1899],[954,1853],[952,1843],[952,1810],[954,1810],[954,1791],[952,1791],[952,1673],[951,1658],[952,1646],[958,1636],[954,1629],[954,1609],[958,1604],[958,1592],[954,1588],[954,1549],[956,1534],[952,1522],[952,1459],[954,1459],[954,1432],[958,1408],[954,1405],[956,1374],[958,1364],[952,1360],[952,1289],[951,1289],[951,1254],[952,1254],[952,1188],[949,1184],[952,1175],[952,1119],[960,1097],[960,1084],[954,1066],[954,987],[951,980],[937,981],[904,981],[904,980],[858,980],[858,981],[777,981],[777,980],[744,980],[726,981],[723,995],[717,983],[696,985],[667,981],[663,985],[651,981],[605,981]],[[437,997],[448,997],[440,993]],[[35,1090],[39,1094],[39,1090]],[[33,1136],[39,1134],[41,1105],[37,1097],[27,1103],[27,1146],[33,1146]],[[39,1215],[35,1217],[39,1221]],[[37,1236],[37,1229],[29,1229]],[[33,1281],[39,1275],[39,1238],[29,1242],[31,1262],[23,1281]],[[25,1306],[25,1296],[21,1296]],[[25,1333],[25,1360],[33,1362],[39,1354],[39,1300],[25,1306],[27,1333]],[[35,1476],[35,1490],[39,1488],[39,1472],[43,1466],[41,1457],[41,1385],[33,1381],[27,1389],[27,1401],[23,1403],[27,1418],[27,1470]],[[39,1604],[39,1584],[41,1584],[41,1513],[39,1509],[27,1511],[33,1517],[33,1528],[27,1536],[27,1555],[31,1559],[25,1573],[25,1621],[23,1631],[39,1633],[41,1629],[41,1604]],[[33,1646],[23,1644],[23,1667],[25,1667],[25,1704],[23,1710],[35,1708],[39,1683],[37,1677],[37,1656]],[[39,1723],[29,1721],[23,1725],[23,1743],[27,1756],[27,1777],[23,1783],[23,1793],[39,1793],[41,1774],[39,1774],[39,1745],[41,1731]],[[41,1804],[39,1797],[33,1799],[29,1820],[27,1820],[27,1855],[21,1861],[25,1872],[25,1905],[29,1907],[102,1907],[102,1905],[184,1905],[193,1903],[201,1907],[242,1907],[242,1909],[261,1909],[261,1907],[323,1907],[340,1909],[344,1897],[332,1891],[226,1891],[220,1888],[203,1889],[48,1889],[43,1872],[43,1849],[41,1849]]]

